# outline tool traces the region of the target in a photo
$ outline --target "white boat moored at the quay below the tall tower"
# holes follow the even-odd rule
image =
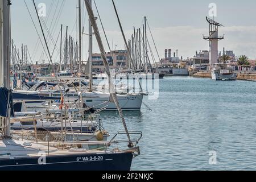
[[[234,73],[233,68],[229,68],[228,64],[218,63],[212,65],[212,79],[213,80],[237,80],[237,74]]]

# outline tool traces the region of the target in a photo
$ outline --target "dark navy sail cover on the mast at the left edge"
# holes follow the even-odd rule
[[[11,116],[14,116],[13,95],[11,90],[0,88],[0,116],[9,117],[8,109],[11,107]]]

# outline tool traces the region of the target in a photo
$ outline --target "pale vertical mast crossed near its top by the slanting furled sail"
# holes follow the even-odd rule
[[[90,7],[92,7],[92,0],[89,0]],[[92,22],[89,19],[89,73],[90,73],[90,82],[89,82],[89,92],[92,92],[92,52],[93,52],[93,40],[92,40]]]

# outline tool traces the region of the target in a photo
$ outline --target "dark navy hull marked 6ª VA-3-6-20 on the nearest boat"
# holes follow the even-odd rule
[[[7,158],[0,160],[0,171],[130,171],[131,152],[110,154],[74,154],[46,156],[46,163],[40,158]]]

